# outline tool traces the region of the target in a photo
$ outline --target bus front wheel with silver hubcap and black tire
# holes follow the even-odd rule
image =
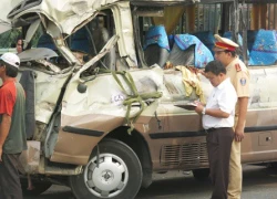
[[[124,143],[104,139],[94,148],[81,175],[70,177],[78,199],[132,199],[142,184],[142,166],[136,154]]]

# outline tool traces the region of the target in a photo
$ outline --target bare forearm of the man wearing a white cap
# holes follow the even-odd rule
[[[11,116],[3,114],[2,122],[0,123],[0,161],[2,161],[3,144],[11,126]]]

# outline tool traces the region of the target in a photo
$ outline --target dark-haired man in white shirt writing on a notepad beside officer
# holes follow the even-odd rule
[[[206,106],[197,103],[195,112],[203,115],[203,127],[207,133],[209,176],[214,186],[212,199],[227,199],[237,94],[219,61],[209,62],[205,74],[214,90]]]

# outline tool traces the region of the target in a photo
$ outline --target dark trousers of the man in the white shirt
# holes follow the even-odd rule
[[[213,128],[207,132],[209,177],[214,187],[212,199],[227,199],[234,130],[233,128]]]

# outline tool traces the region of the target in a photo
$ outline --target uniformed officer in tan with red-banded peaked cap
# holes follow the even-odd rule
[[[215,59],[222,62],[226,67],[227,76],[229,76],[238,97],[234,125],[235,138],[232,144],[229,161],[228,199],[240,199],[243,182],[240,142],[244,138],[249,98],[249,72],[236,54],[237,43],[229,39],[222,38],[218,34],[215,34]]]

